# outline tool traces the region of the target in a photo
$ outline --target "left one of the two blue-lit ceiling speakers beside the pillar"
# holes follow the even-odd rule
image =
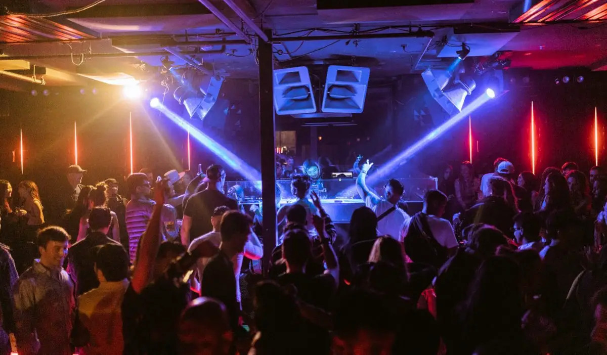
[[[274,109],[278,115],[316,112],[307,67],[274,70]]]

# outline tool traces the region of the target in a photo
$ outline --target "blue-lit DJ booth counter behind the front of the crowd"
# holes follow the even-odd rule
[[[407,212],[414,214],[422,209],[424,194],[430,189],[438,187],[438,180],[430,178],[401,178],[396,179],[404,186],[402,201],[407,205]],[[384,180],[378,184],[369,185],[376,193],[384,196]],[[260,205],[262,194],[259,189],[260,181],[226,181],[228,196],[237,198],[249,211],[251,205]],[[330,180],[313,180],[311,191],[316,191],[320,203],[331,216],[334,223],[350,223],[350,217],[355,209],[365,206],[365,201],[356,191],[356,178],[334,178]],[[277,206],[293,203],[296,198],[291,194],[291,180],[276,181]]]

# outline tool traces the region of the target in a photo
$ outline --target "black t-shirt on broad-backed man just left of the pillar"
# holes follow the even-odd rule
[[[217,190],[206,189],[197,192],[188,199],[183,215],[192,218],[190,240],[213,230],[211,216],[213,210],[219,206],[228,206],[230,209],[238,209],[236,200],[226,197],[221,191]]]

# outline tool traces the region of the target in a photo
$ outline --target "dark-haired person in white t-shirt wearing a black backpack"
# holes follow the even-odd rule
[[[441,218],[447,206],[447,196],[438,190],[424,195],[424,209],[416,213],[402,228],[405,253],[415,263],[440,268],[454,254],[458,241],[453,227]]]

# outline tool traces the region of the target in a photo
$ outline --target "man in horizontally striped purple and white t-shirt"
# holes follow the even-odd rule
[[[131,174],[126,179],[126,183],[131,194],[131,201],[126,204],[126,230],[129,233],[129,257],[131,263],[134,263],[139,239],[148,226],[155,202],[148,198],[152,184],[146,174],[141,172]],[[173,212],[168,206],[164,206],[161,219],[164,222],[170,221],[171,218],[174,218]],[[166,239],[164,235],[163,239]]]

